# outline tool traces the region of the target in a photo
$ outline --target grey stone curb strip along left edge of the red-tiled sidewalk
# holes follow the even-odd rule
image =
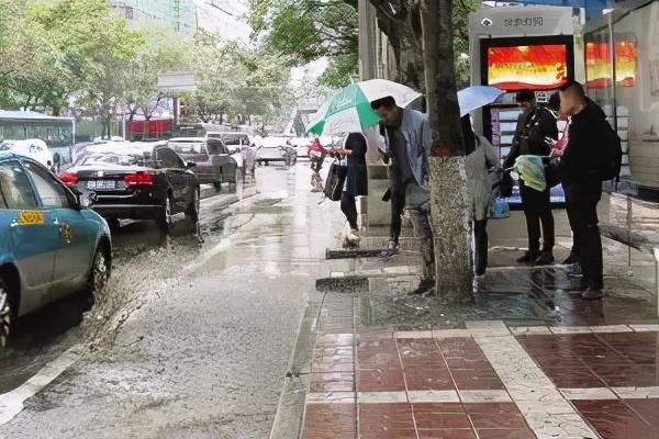
[[[315,322],[320,302],[310,302],[300,322],[295,349],[281,390],[270,439],[297,439],[302,434],[304,403],[309,393],[311,362],[315,342]]]

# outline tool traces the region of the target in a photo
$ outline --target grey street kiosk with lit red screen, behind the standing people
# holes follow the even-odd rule
[[[482,130],[504,158],[511,149],[520,110],[515,93],[529,89],[537,101],[574,79],[573,10],[562,7],[483,7],[469,15],[471,83],[492,86],[506,93],[474,114]],[[518,190],[507,200],[520,207]],[[562,189],[551,191],[554,204],[565,203]]]

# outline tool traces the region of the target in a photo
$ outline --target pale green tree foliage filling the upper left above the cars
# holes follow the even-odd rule
[[[72,99],[108,133],[124,109],[150,119],[158,74],[192,69],[199,89],[187,101],[202,120],[282,112],[294,63],[272,46],[135,31],[107,0],[0,0],[0,108],[58,114]]]

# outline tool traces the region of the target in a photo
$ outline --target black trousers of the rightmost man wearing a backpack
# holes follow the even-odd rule
[[[579,259],[585,285],[593,290],[601,290],[604,286],[604,275],[602,237],[597,227],[597,202],[569,202],[568,200],[566,209],[574,235],[573,250]]]

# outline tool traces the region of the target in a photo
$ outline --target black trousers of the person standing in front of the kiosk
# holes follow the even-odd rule
[[[520,183],[524,216],[526,216],[526,232],[528,234],[528,251],[537,254],[540,249],[540,236],[543,237],[543,250],[551,251],[555,244],[554,214],[549,189],[538,192],[523,183]],[[540,233],[541,226],[541,233]]]

